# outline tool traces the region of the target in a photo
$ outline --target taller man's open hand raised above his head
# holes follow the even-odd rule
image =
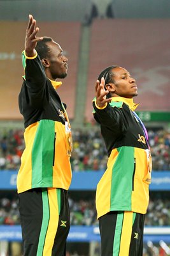
[[[43,37],[36,37],[38,31],[39,28],[36,28],[36,20],[30,14],[25,36],[25,54],[28,57],[34,57],[36,55],[35,47],[37,42],[43,40]]]

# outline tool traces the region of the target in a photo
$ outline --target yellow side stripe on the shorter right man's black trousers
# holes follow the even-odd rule
[[[122,225],[119,256],[129,255],[132,236],[133,213],[134,212],[124,212],[124,222]]]

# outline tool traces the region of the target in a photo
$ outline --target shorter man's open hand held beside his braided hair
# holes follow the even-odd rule
[[[108,90],[104,89],[104,77],[101,79],[101,83],[99,80],[96,81],[95,89],[96,89],[96,103],[99,108],[103,108],[106,106],[106,103],[111,102],[111,98],[106,99],[106,95],[109,93]]]

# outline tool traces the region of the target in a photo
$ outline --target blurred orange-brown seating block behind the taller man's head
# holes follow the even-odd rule
[[[61,45],[69,59],[68,76],[62,81],[63,84],[58,90],[62,101],[69,102],[68,114],[69,118],[73,119],[81,24],[80,22],[39,22],[38,26],[41,28],[39,36],[51,36]],[[18,111],[18,93],[24,74],[21,51],[24,49],[26,27],[27,22],[0,21],[1,38],[3,38],[0,42],[0,119],[22,118]]]

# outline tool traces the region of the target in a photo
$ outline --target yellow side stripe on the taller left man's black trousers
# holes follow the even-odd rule
[[[59,223],[59,209],[57,202],[56,188],[48,188],[48,202],[50,207],[50,220],[45,237],[43,256],[52,255],[53,242]]]

